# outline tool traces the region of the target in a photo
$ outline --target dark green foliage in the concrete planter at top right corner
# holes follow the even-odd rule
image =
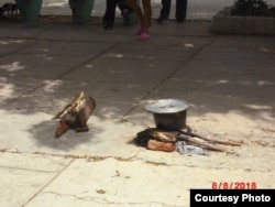
[[[231,15],[275,17],[275,7],[263,0],[235,0]]]

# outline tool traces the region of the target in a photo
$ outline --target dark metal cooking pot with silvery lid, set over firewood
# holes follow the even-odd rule
[[[145,109],[154,115],[158,129],[177,131],[186,127],[189,103],[178,99],[162,99],[147,105]]]

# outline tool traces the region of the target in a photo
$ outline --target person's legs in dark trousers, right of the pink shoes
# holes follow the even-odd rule
[[[184,22],[186,19],[186,10],[187,10],[187,0],[176,0],[176,21]],[[156,19],[158,23],[163,23],[163,21],[169,19],[170,13],[170,0],[162,0],[162,9],[160,13],[160,18]]]

